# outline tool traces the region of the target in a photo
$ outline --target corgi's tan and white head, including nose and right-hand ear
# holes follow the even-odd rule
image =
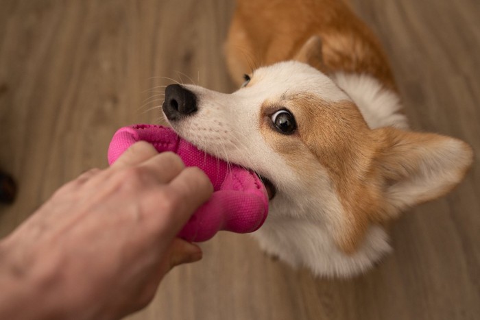
[[[180,136],[273,184],[269,219],[324,223],[346,252],[370,224],[447,193],[472,162],[455,138],[371,130],[343,90],[300,62],[257,69],[232,94],[169,86],[163,110]]]

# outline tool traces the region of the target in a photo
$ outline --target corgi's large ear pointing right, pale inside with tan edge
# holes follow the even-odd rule
[[[471,147],[455,138],[393,128],[374,133],[381,141],[374,170],[385,199],[383,214],[389,217],[445,195],[473,161]]]

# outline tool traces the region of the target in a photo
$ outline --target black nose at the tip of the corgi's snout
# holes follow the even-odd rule
[[[165,88],[165,102],[162,108],[167,119],[178,120],[197,111],[197,97],[179,84],[171,84]]]

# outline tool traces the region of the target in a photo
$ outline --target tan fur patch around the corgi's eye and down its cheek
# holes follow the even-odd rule
[[[319,165],[339,195],[345,217],[335,217],[337,243],[353,252],[361,242],[371,217],[379,207],[378,191],[372,182],[370,164],[374,139],[357,106],[350,101],[328,103],[314,95],[293,95],[282,106],[293,112],[298,132],[285,136],[274,130],[269,116],[278,110],[276,103],[264,103],[261,131],[269,145],[283,155],[306,184],[313,184]]]

